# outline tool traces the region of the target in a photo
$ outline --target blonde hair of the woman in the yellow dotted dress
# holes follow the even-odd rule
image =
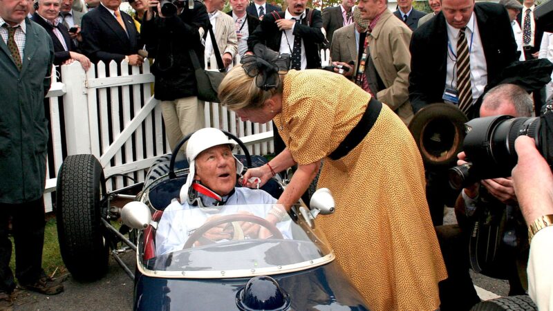
[[[282,93],[282,78],[279,77],[279,79],[281,80],[279,87],[263,91],[256,85],[255,77],[247,75],[240,64],[232,68],[219,84],[219,100],[221,100],[221,104],[228,106],[231,110],[245,107],[261,108],[265,100],[274,94]]]

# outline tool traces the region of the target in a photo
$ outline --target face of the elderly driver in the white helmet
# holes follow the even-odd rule
[[[236,162],[230,147],[220,144],[202,151],[196,157],[196,176],[198,180],[219,196],[226,196],[236,185]]]

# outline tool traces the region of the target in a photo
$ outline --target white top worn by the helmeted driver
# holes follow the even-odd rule
[[[276,198],[263,190],[245,187],[234,190],[234,194],[227,198],[225,205],[211,213],[208,209],[191,208],[187,202],[182,205],[177,200],[171,202],[163,211],[156,230],[156,256],[182,249],[188,237],[211,216],[247,211],[255,216],[265,218],[268,211],[272,209],[272,204],[277,202]],[[277,228],[284,238],[292,238],[291,222],[292,220],[285,220],[277,223]]]

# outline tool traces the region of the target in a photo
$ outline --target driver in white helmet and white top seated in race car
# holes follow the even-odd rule
[[[236,142],[218,129],[200,129],[191,135],[186,148],[189,175],[180,190],[180,202],[173,200],[158,224],[157,256],[182,249],[188,237],[204,223],[231,214],[260,218],[272,214],[279,218],[276,226],[284,238],[291,238],[291,220],[283,209],[274,205],[276,198],[263,190],[235,187],[236,176],[242,173],[243,164],[232,154],[234,145]],[[209,229],[203,238],[236,240],[237,231],[241,238],[259,238],[266,232],[255,223],[239,221]],[[194,245],[201,245],[201,241]]]

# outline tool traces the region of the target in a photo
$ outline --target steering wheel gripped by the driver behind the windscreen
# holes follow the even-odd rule
[[[207,232],[209,229],[212,229],[214,227],[217,227],[218,225],[222,225],[223,223],[233,223],[235,221],[246,221],[248,223],[254,223],[256,225],[260,225],[261,227],[265,227],[266,229],[271,232],[272,236],[274,238],[283,239],[283,236],[280,232],[280,230],[273,225],[272,223],[269,223],[264,218],[254,216],[254,215],[247,215],[247,214],[234,214],[234,215],[225,215],[221,216],[219,218],[216,218],[214,220],[210,220],[207,223],[203,224],[201,227],[196,229],[193,234],[191,234],[188,237],[188,240],[185,243],[185,246],[182,247],[182,249],[187,249],[192,247],[196,241],[198,241],[205,232]]]

